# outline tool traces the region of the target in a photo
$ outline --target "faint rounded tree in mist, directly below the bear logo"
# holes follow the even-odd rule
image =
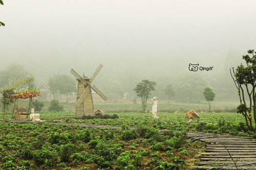
[[[195,72],[179,75],[174,81],[175,89],[180,98],[189,99],[191,103],[194,99],[202,98],[202,91],[208,82]]]

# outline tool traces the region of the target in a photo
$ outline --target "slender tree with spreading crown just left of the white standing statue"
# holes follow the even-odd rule
[[[151,95],[150,92],[155,90],[155,85],[157,85],[156,82],[142,80],[142,82],[137,84],[137,86],[134,88],[134,91],[137,93],[137,96],[141,98],[143,112],[146,110],[146,102],[149,97],[148,95]]]

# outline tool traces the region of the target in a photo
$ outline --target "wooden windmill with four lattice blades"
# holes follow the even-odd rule
[[[94,85],[91,86],[92,81],[97,76],[99,70],[103,67],[103,65],[99,65],[92,77],[89,79],[84,76],[81,77],[77,74],[77,72],[71,69],[71,73],[77,78],[77,96],[76,96],[76,117],[82,117],[83,115],[91,115],[94,116],[94,108],[93,108],[93,98],[92,98],[92,89],[101,96],[101,98],[106,101],[106,96]]]

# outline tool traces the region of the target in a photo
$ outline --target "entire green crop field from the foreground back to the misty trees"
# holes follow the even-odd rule
[[[189,169],[204,151],[200,141],[187,142],[185,131],[256,137],[241,114],[202,112],[205,104],[160,104],[158,119],[141,113],[139,104],[95,104],[115,118],[72,119],[74,111],[41,111],[45,124],[0,122],[2,169]],[[66,106],[66,109],[72,107]],[[150,108],[150,106],[148,106]],[[168,111],[169,109],[169,111]],[[200,118],[185,118],[189,109]],[[201,110],[200,110],[201,109]],[[177,112],[176,112],[177,111]],[[179,111],[179,112],[178,112]],[[11,118],[9,112],[7,118]],[[62,123],[67,125],[53,125]],[[69,126],[76,124],[76,126]],[[119,129],[82,128],[79,124],[119,126]],[[159,130],[168,130],[160,134]]]

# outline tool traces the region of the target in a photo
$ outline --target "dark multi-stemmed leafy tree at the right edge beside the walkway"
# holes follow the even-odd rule
[[[254,50],[247,51],[249,55],[243,56],[246,66],[241,64],[234,70],[230,69],[231,77],[238,89],[240,105],[237,112],[241,113],[245,118],[245,123],[250,131],[256,133],[256,52]],[[249,98],[249,104],[245,102],[245,95]]]

